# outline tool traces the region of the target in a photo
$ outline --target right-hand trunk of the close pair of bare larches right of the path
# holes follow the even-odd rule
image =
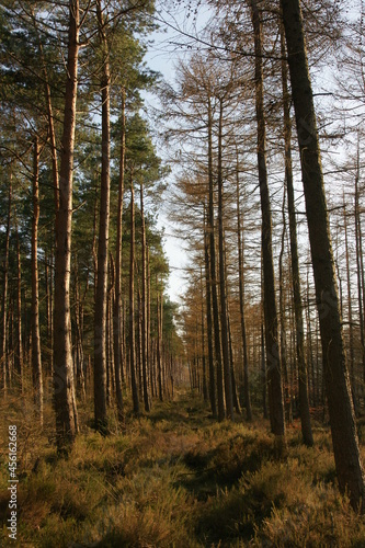
[[[219,296],[220,296],[220,334],[225,374],[225,395],[227,416],[235,419],[232,378],[229,363],[229,341],[227,320],[227,279],[225,267],[225,232],[224,232],[224,180],[223,180],[223,99],[219,99],[219,125],[218,125],[218,249],[219,249]]]

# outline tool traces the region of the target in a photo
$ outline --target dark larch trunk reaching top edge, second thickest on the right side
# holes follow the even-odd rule
[[[282,372],[277,338],[277,310],[272,250],[272,219],[266,169],[266,129],[263,102],[262,25],[256,0],[249,0],[254,33],[255,103],[258,122],[258,168],[262,213],[262,262],[264,281],[264,319],[266,346],[266,376],[269,387],[270,422],[273,434],[285,437]]]

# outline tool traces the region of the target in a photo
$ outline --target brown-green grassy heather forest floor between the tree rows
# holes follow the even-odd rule
[[[278,458],[267,422],[217,423],[184,391],[148,416],[129,414],[124,433],[83,426],[59,458],[47,406],[42,432],[30,402],[9,397],[0,409],[1,546],[365,546],[365,518],[339,494],[323,426],[307,448],[295,423]],[[85,424],[91,403],[80,415]],[[15,541],[7,528],[9,424],[18,425]]]

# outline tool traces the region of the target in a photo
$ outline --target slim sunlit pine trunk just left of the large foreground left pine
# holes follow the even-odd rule
[[[38,220],[39,220],[39,144],[33,149],[33,219],[32,219],[32,374],[33,390],[41,426],[43,426],[43,377],[39,334],[38,292]]]

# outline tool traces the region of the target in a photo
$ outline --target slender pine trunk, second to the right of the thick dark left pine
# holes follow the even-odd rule
[[[130,174],[130,259],[129,259],[129,368],[133,397],[133,410],[139,413],[139,397],[136,377],[136,342],[135,342],[135,191]]]

